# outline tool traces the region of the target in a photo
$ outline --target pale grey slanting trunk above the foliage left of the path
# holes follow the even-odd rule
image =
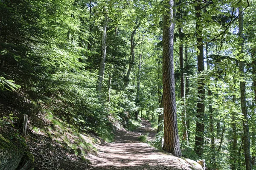
[[[98,85],[97,90],[99,92],[99,96],[101,96],[102,91],[102,81],[104,77],[104,68],[105,68],[105,59],[106,59],[106,33],[107,33],[107,22],[108,17],[105,14],[105,18],[103,21],[103,32],[102,32],[102,45],[101,45],[101,59],[99,63],[99,74],[98,74]]]

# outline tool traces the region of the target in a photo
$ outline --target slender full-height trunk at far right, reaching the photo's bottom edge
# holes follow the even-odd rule
[[[239,40],[240,40],[240,54],[243,56],[244,48],[244,38],[243,38],[243,13],[242,8],[239,7]],[[239,56],[239,57],[241,57]],[[246,164],[246,170],[252,169],[251,155],[250,155],[250,132],[248,125],[248,115],[246,108],[246,91],[245,91],[245,76],[244,76],[244,61],[239,61],[239,71],[240,71],[240,92],[241,92],[241,111],[244,115],[243,117],[243,129],[244,129],[244,159]]]

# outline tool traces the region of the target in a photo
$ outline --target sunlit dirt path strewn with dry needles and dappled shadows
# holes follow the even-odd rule
[[[92,170],[191,170],[183,159],[139,142],[138,137],[149,133],[153,139],[155,131],[148,121],[134,132],[118,130],[115,142],[97,145],[98,154],[89,155]]]

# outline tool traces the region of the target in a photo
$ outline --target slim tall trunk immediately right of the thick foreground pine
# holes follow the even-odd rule
[[[179,1],[179,4],[181,4],[181,1]],[[184,105],[184,111],[181,112],[181,119],[182,119],[182,144],[187,145],[188,144],[188,132],[187,132],[187,126],[186,126],[186,105],[185,105],[185,75],[184,75],[184,59],[183,59],[183,26],[182,26],[182,10],[181,7],[178,8],[178,14],[177,19],[180,21],[180,24],[178,25],[179,30],[179,39],[180,39],[180,45],[179,45],[179,54],[180,54],[180,99],[183,100],[182,105]]]

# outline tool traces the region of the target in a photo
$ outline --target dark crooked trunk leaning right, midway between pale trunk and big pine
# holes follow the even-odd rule
[[[134,26],[134,30],[131,33],[131,53],[130,53],[130,58],[129,58],[129,67],[128,67],[128,71],[127,71],[127,74],[126,74],[126,77],[125,77],[125,85],[128,85],[129,77],[130,77],[130,74],[131,74],[131,68],[134,65],[134,58],[135,58],[134,48],[137,45],[137,43],[134,42],[134,36],[135,36],[135,33],[136,33],[137,29],[139,28],[139,26],[140,26],[140,23],[138,23],[138,21],[136,21],[136,25]]]

